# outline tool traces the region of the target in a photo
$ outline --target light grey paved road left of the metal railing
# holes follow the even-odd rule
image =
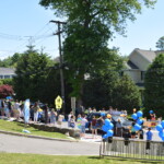
[[[51,155],[98,155],[99,143],[66,142],[0,133],[0,152]]]

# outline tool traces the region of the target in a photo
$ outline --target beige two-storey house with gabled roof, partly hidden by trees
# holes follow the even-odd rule
[[[141,94],[144,90],[144,73],[155,57],[161,52],[164,51],[143,50],[136,48],[128,57],[126,69],[122,71],[122,73],[131,77],[134,83],[139,86]]]

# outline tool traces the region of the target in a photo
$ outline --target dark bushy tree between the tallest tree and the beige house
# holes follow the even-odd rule
[[[115,106],[113,103],[113,91],[118,80],[118,72],[94,74],[92,79],[84,82],[83,105],[96,107],[97,109]]]

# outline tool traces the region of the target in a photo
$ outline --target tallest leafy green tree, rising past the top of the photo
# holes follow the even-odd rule
[[[73,96],[83,95],[84,74],[107,67],[110,56],[108,39],[114,32],[125,33],[127,20],[134,21],[141,7],[152,7],[155,0],[40,0],[40,4],[67,19],[63,57],[70,66],[69,81]],[[80,102],[81,103],[81,102]]]

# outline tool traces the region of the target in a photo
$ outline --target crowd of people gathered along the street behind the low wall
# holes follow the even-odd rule
[[[20,119],[24,117],[24,102],[19,101],[11,101],[11,99],[0,99],[0,115],[1,117],[14,117],[15,119]],[[68,120],[68,127],[69,128],[79,128],[81,131],[81,137],[85,137],[85,128],[87,125],[87,128],[92,131],[92,137],[97,137],[97,129],[101,129],[101,127],[104,124],[105,117],[99,116],[96,118],[96,116],[92,116],[92,119],[87,119],[87,115],[91,113],[96,113],[96,108],[87,108],[84,109],[83,106],[80,106],[74,113],[70,112],[70,114],[67,116]],[[110,115],[119,115],[122,117],[127,117],[127,110],[117,110],[114,109],[112,106],[108,108],[108,110],[105,110],[105,108],[102,108],[99,113],[108,113]],[[133,113],[136,113],[136,109],[133,109]],[[156,120],[155,114],[150,114],[151,120]],[[49,124],[49,126],[58,126],[62,127],[62,121],[66,120],[66,117],[63,114],[58,113],[54,108],[49,108],[47,104],[45,104],[42,108],[39,106],[38,102],[35,102],[30,105],[30,120],[37,124],[38,121],[43,121],[45,124]],[[109,118],[110,119],[110,118]],[[145,119],[145,118],[144,118]],[[162,120],[162,118],[157,119],[159,121]],[[116,137],[125,137],[125,138],[139,138],[143,139],[143,129],[139,130],[138,132],[134,129],[134,124],[132,122],[131,127],[127,129],[125,133],[122,133],[122,122],[121,119],[118,119],[115,124],[115,136]],[[149,129],[150,131],[150,129]]]

